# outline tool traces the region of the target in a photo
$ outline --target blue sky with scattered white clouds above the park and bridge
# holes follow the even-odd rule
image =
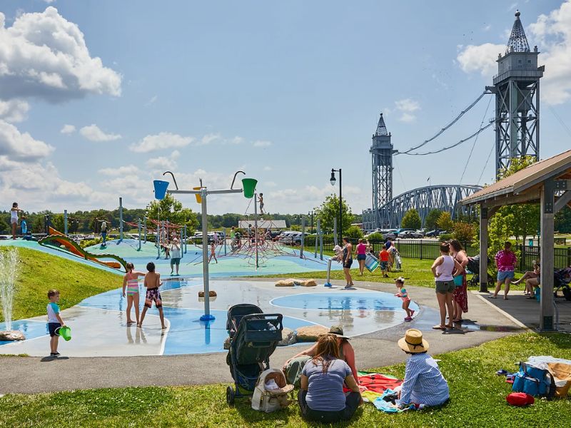
[[[433,136],[492,85],[516,9],[545,65],[548,158],[571,147],[571,0],[0,0],[0,203],[144,208],[165,170],[186,189],[229,188],[243,170],[268,212],[305,213],[338,192],[341,168],[360,213],[379,113],[397,150]],[[424,148],[493,116],[485,96]],[[489,128],[395,156],[393,195],[491,183],[494,141]],[[208,198],[209,213],[252,211]]]

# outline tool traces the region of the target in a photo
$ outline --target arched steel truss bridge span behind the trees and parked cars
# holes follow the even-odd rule
[[[382,205],[379,210],[364,210],[363,228],[398,228],[403,216],[413,208],[418,211],[423,225],[428,213],[433,209],[448,211],[453,219],[458,215],[470,215],[471,208],[459,205],[458,201],[481,189],[480,185],[454,184],[429,185],[408,190]]]

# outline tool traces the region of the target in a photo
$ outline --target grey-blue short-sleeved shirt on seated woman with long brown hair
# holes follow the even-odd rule
[[[305,400],[312,410],[334,412],[345,409],[343,382],[351,374],[351,369],[343,360],[330,360],[327,372],[323,373],[323,363],[309,360],[301,374],[308,377],[308,394]]]

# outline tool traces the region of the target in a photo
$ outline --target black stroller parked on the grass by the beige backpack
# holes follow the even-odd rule
[[[226,388],[226,402],[235,397],[253,394],[258,376],[270,367],[270,355],[282,339],[283,315],[264,314],[256,305],[234,305],[228,309],[226,330],[230,335],[230,350],[226,363],[236,391]]]

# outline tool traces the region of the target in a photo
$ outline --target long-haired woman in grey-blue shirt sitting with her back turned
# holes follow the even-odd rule
[[[345,397],[343,384],[351,390]],[[338,422],[353,417],[363,402],[351,369],[339,358],[337,337],[319,337],[315,355],[303,367],[298,404],[303,417],[318,422]]]

